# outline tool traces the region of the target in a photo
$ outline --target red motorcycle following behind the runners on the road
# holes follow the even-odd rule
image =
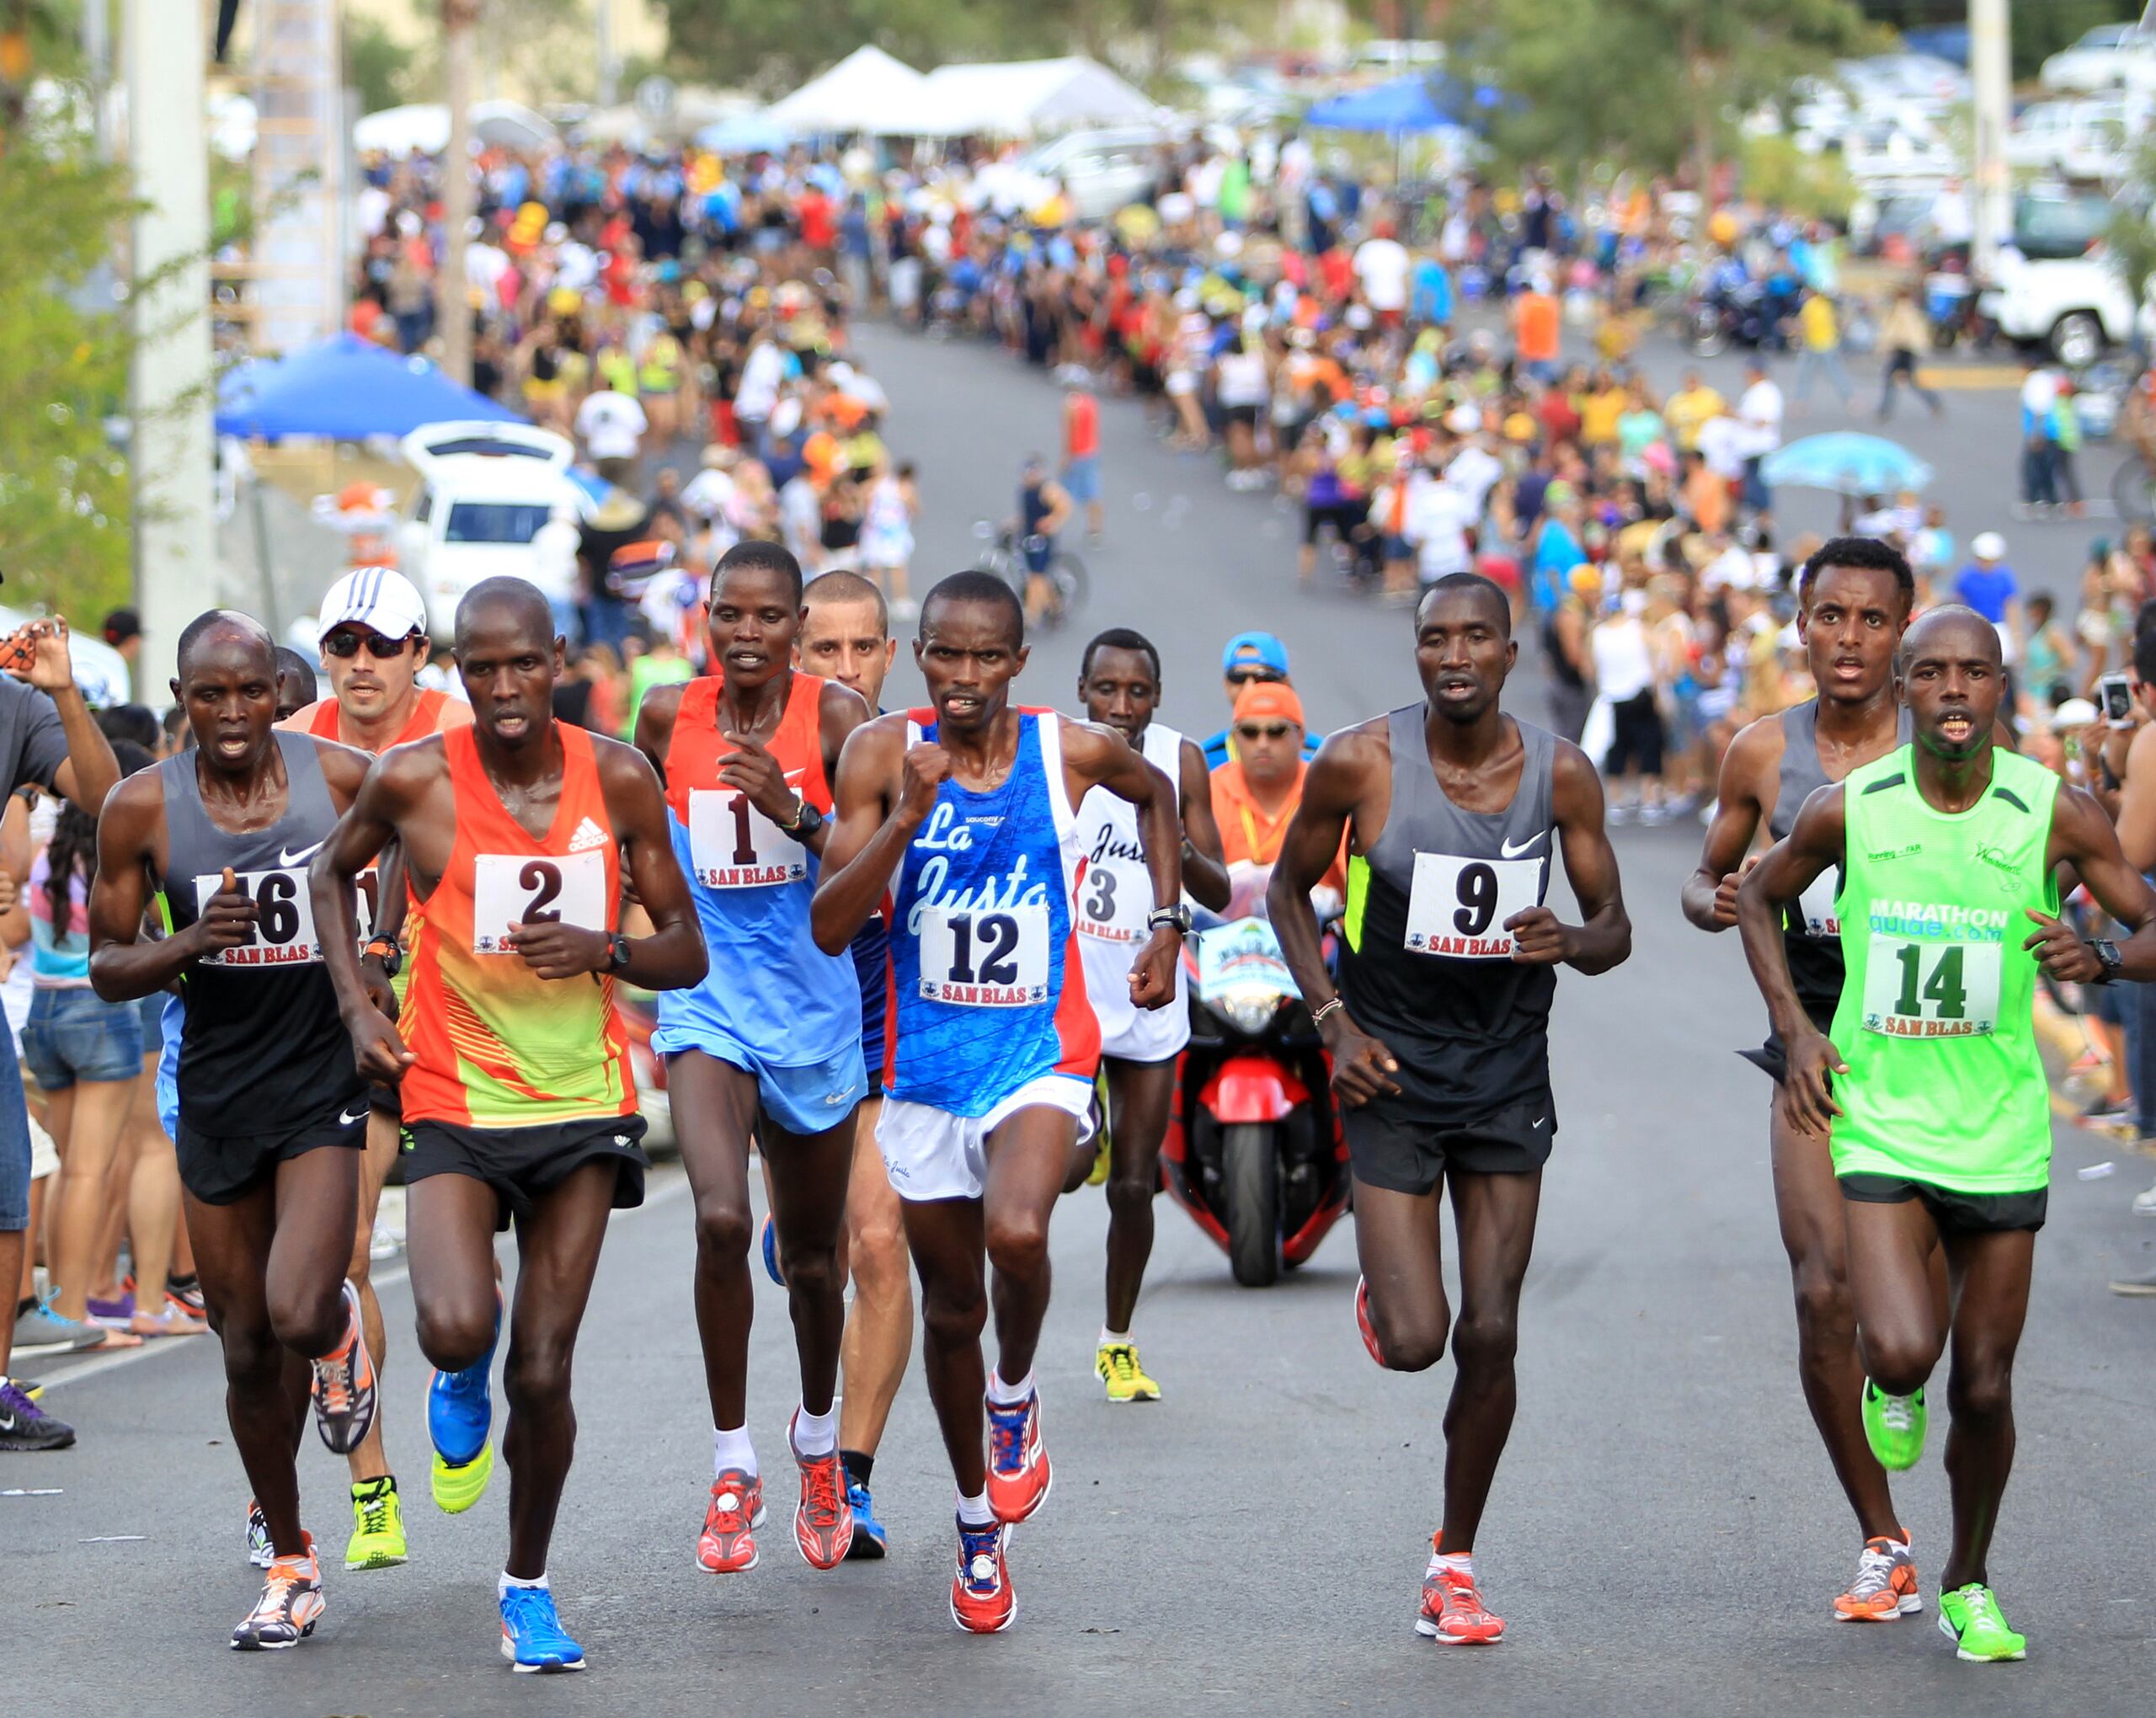
[[[1184,948],[1190,1043],[1160,1147],[1169,1196],[1246,1289],[1309,1261],[1348,1209],[1332,1065],[1272,925],[1238,918]]]

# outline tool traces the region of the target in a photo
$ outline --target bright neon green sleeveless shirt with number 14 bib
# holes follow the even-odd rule
[[[2044,864],[2059,778],[2007,750],[1960,815],[1917,791],[1912,746],[1852,770],[1837,905],[1848,976],[1833,1041],[1837,1175],[1953,1192],[2042,1188],[2050,1089],[2037,1056],[2035,931],[2059,912]]]

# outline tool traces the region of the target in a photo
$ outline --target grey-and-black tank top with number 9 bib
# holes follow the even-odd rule
[[[1511,914],[1550,888],[1557,737],[1507,718],[1526,757],[1505,810],[1455,806],[1429,767],[1423,705],[1386,718],[1393,808],[1348,860],[1341,996],[1399,1058],[1401,1104],[1460,1125],[1550,1089],[1557,972],[1511,959]]]

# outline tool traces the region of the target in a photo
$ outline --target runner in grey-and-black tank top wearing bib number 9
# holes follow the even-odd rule
[[[1632,953],[1632,923],[1587,754],[1498,711],[1520,660],[1503,588],[1449,573],[1423,595],[1414,627],[1423,703],[1324,744],[1270,905],[1345,1104],[1365,1276],[1356,1321],[1380,1367],[1423,1371],[1445,1354],[1440,1183],[1453,1194],[1460,1319],[1445,1522],[1414,1627],[1440,1643],[1490,1643],[1505,1623],[1475,1584],[1475,1530],[1518,1401],[1520,1283],[1557,1136],[1554,968],[1608,972]],[[1335,992],[1309,890],[1343,832]],[[1544,905],[1552,849],[1565,856],[1583,925]]]

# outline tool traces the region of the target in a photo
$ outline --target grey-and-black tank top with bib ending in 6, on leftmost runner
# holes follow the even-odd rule
[[[157,765],[166,828],[157,892],[168,931],[201,916],[224,867],[261,905],[254,942],[181,974],[179,1119],[211,1138],[291,1132],[360,1091],[306,892],[308,860],[336,826],[336,806],[315,739],[274,737],[285,759],[285,815],[250,834],[209,821],[192,750]]]

